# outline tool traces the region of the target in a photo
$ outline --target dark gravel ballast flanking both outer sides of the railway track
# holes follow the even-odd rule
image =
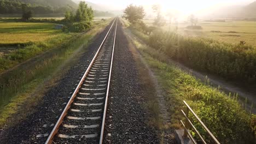
[[[42,103],[34,107],[30,116],[13,127],[4,129],[0,143],[46,141],[112,22],[96,35],[88,46],[88,51],[66,75],[45,93]],[[129,41],[121,22],[118,21],[103,143],[159,143],[156,130],[147,123],[148,113],[143,106],[143,89]]]

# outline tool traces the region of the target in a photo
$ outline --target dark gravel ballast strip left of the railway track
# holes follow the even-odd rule
[[[34,107],[35,112],[24,121],[2,131],[0,143],[44,143],[46,141],[53,129],[53,124],[57,122],[65,103],[71,97],[112,22],[103,32],[95,36],[93,43],[88,46],[88,51],[78,59],[66,75],[45,93],[42,103]]]

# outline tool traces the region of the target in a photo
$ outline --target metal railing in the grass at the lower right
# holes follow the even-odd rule
[[[203,124],[203,122],[201,121],[201,119],[195,114],[195,112],[191,109],[191,107],[186,103],[186,101],[183,100],[183,103],[185,104],[187,110],[184,112],[183,110],[182,113],[185,117],[185,123],[182,122],[181,120],[181,124],[184,127],[184,134],[183,137],[184,138],[190,138],[190,140],[193,143],[197,143],[196,140],[193,138],[193,136],[189,133],[189,129],[192,127],[194,129],[194,132],[200,137],[202,143],[206,144],[206,141],[203,139],[203,137],[200,135],[199,131],[195,128],[195,126],[193,125],[193,123],[190,121],[189,119],[189,112],[191,112],[195,118],[197,119],[197,121],[202,125],[203,129],[206,130],[206,132],[208,133],[208,135],[210,135],[211,139],[217,143],[220,144],[220,142],[216,139],[216,137],[211,133],[211,131],[206,127],[205,124]]]

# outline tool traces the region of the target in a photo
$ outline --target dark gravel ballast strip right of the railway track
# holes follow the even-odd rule
[[[159,143],[147,124],[143,88],[120,21],[115,44],[104,143]]]

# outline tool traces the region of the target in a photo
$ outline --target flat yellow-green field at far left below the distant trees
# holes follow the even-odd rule
[[[0,21],[0,44],[44,41],[62,34],[54,29],[55,23],[3,22]]]

